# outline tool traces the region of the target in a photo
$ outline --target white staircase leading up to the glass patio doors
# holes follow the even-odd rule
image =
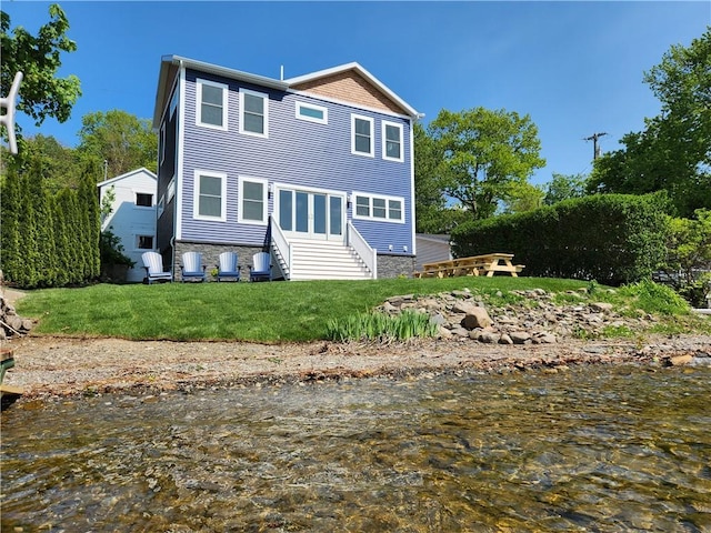
[[[370,280],[372,272],[358,253],[340,242],[289,241],[291,268],[287,258],[272,244],[272,257],[283,272],[284,279],[299,280]]]

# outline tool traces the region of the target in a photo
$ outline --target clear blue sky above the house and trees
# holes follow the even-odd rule
[[[11,26],[36,34],[50,2],[4,1]],[[120,109],[152,118],[166,54],[279,78],[358,61],[425,114],[475,107],[529,114],[545,168],[587,173],[592,142],[620,148],[659,101],[642,82],[672,44],[689,46],[711,26],[711,2],[59,2],[78,50],[61,76],[77,74],[83,95],[62,124],[41,132],[78,142],[81,118]]]

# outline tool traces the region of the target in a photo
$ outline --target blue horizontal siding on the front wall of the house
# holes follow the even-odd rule
[[[208,79],[227,83],[228,131],[196,125],[196,79]],[[186,77],[184,151],[182,239],[260,244],[263,225],[238,224],[238,178],[249,175],[311,188],[368,192],[401,197],[404,200],[405,223],[354,220],[353,224],[371,244],[387,252],[392,244],[393,253],[412,252],[413,228],[411,212],[411,153],[410,127],[407,119],[387,113],[365,111],[356,107],[324,102],[310,97],[273,91],[261,87],[238,83],[188,71]],[[239,133],[240,87],[268,93],[269,139]],[[316,103],[328,108],[328,124],[319,124],[296,118],[296,101]],[[374,119],[374,158],[351,153],[351,113]],[[382,121],[401,123],[403,127],[403,162],[382,159]],[[194,170],[226,172],[227,221],[208,222],[193,220]],[[269,212],[272,212],[270,200]],[[352,209],[348,219],[352,219]]]

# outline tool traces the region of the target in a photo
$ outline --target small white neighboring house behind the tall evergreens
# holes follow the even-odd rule
[[[157,177],[140,168],[97,184],[99,202],[113,189],[112,211],[101,223],[101,231],[111,230],[121,239],[123,253],[136,262],[129,269],[127,281],[143,281],[146,271],[141,254],[156,251],[156,191]]]

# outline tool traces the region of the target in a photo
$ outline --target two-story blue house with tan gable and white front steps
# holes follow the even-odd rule
[[[180,274],[270,251],[273,276],[409,275],[418,112],[358,63],[271,79],[162,58],[157,249]],[[246,270],[246,269],[244,269]]]

